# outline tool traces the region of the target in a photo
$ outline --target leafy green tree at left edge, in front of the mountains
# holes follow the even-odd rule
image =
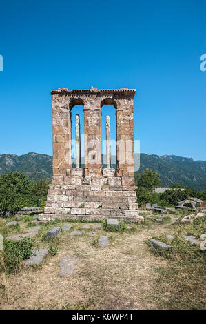
[[[0,212],[16,213],[22,207],[32,204],[30,192],[33,181],[21,172],[11,172],[0,176]]]

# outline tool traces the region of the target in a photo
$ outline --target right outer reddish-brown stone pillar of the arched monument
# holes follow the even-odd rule
[[[117,175],[123,185],[134,184],[133,98],[121,99],[116,108]]]

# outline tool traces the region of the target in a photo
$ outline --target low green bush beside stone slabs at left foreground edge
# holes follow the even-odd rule
[[[19,263],[32,254],[34,239],[25,238],[21,241],[4,241],[3,258],[1,258],[1,272],[17,272]]]

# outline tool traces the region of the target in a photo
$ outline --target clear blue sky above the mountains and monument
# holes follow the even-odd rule
[[[206,160],[205,12],[204,0],[1,1],[0,154],[52,154],[50,90],[93,85],[137,89],[141,152]]]

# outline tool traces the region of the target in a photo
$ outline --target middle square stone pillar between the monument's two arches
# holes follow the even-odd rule
[[[84,121],[85,175],[101,175],[101,108],[95,99],[84,108]]]

